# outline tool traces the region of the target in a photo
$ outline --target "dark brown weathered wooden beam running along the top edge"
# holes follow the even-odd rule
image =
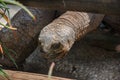
[[[119,0],[18,0],[27,6],[74,11],[118,14]]]

